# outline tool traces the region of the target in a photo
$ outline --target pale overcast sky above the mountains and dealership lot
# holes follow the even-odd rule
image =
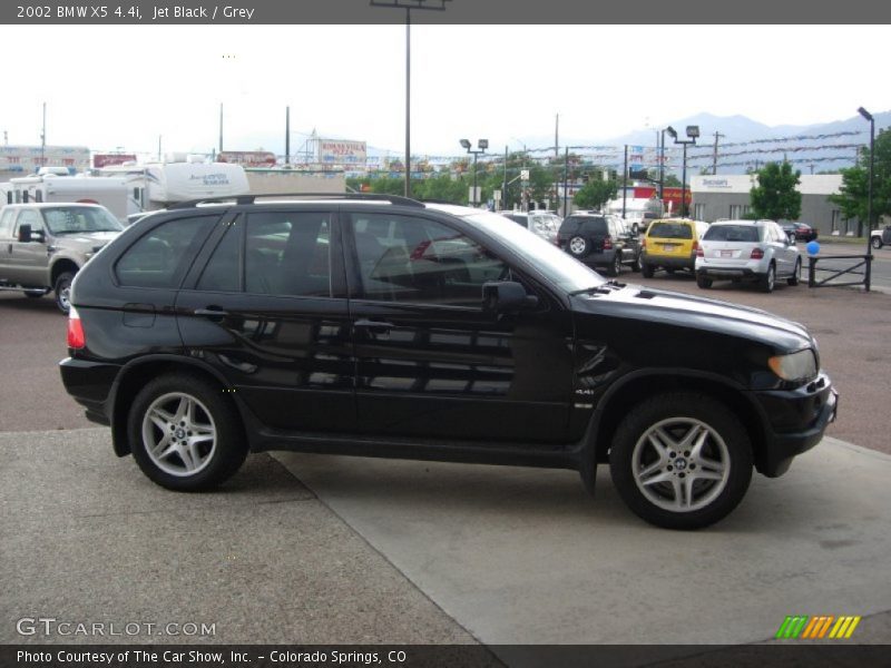
[[[770,126],[891,109],[885,26],[414,26],[412,153],[462,137],[593,141],[707,111]],[[404,26],[0,26],[14,145],[404,151]],[[277,146],[274,143],[277,141]]]

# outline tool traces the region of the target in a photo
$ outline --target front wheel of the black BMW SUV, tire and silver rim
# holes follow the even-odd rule
[[[752,445],[736,414],[712,396],[687,392],[631,409],[609,452],[625,503],[666,529],[702,529],[725,518],[745,497],[752,466]]]

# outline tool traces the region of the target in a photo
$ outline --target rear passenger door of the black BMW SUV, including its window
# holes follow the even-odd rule
[[[335,215],[245,210],[207,246],[176,302],[186,346],[266,428],[349,431],[354,365]]]

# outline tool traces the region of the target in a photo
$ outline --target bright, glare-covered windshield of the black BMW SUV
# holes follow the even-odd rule
[[[498,237],[498,240],[518,255],[529,258],[539,272],[566,292],[606,283],[606,279],[590,267],[574,259],[537,234],[518,227],[503,216],[481,212],[467,216],[467,219]]]

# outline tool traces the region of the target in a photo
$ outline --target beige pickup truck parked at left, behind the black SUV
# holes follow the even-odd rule
[[[124,227],[97,204],[9,204],[0,209],[0,288],[56,292],[68,313],[71,281]]]

